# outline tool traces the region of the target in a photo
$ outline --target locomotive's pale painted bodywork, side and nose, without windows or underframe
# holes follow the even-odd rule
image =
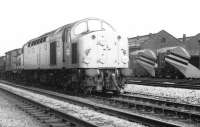
[[[89,21],[106,24],[107,29],[89,29],[76,34],[76,28],[81,23]],[[87,25],[88,26],[88,25]],[[34,40],[45,37],[42,43],[29,46]],[[50,44],[56,43],[56,64],[50,64]],[[76,43],[77,50],[72,51],[72,44]],[[72,63],[72,52],[77,56],[77,62]],[[60,68],[128,68],[129,61],[128,40],[118,34],[107,22],[89,18],[60,27],[52,32],[32,39],[23,46],[21,66],[25,70],[32,69],[60,69]]]

